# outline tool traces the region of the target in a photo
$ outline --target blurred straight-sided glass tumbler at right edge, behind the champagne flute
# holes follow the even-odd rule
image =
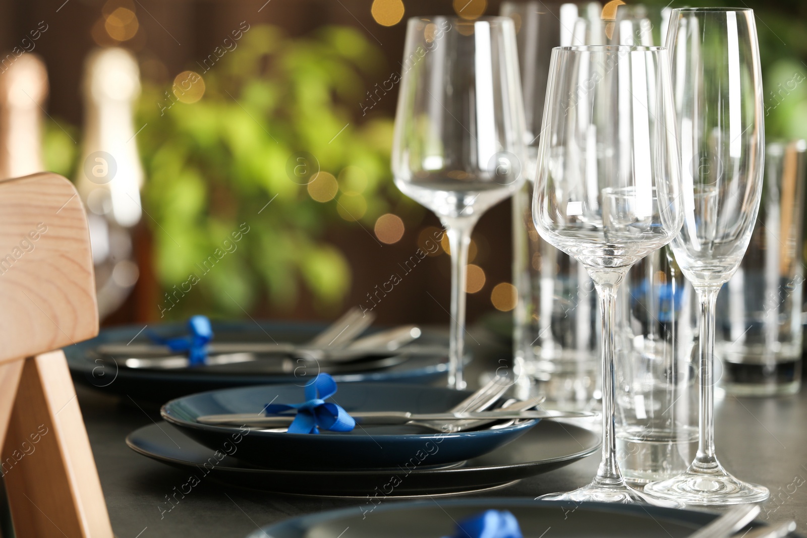
[[[801,387],[805,151],[805,140],[767,144],[758,222],[717,299],[720,383],[730,394],[796,394]]]

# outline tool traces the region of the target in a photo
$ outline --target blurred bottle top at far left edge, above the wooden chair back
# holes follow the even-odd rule
[[[0,72],[0,179],[45,169],[42,115],[47,97],[48,71],[39,56],[6,56]]]

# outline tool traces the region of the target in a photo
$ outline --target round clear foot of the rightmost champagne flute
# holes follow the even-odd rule
[[[662,499],[675,499],[685,504],[725,505],[759,503],[770,496],[765,486],[757,486],[734,478],[718,464],[712,471],[686,473],[663,482],[650,482],[645,493]]]

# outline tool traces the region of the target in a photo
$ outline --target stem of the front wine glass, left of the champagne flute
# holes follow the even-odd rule
[[[625,270],[626,272],[626,270]],[[592,273],[602,315],[603,447],[600,468],[594,482],[600,486],[624,486],[617,465],[617,432],[614,423],[614,359],[617,352],[617,290],[625,272]]]

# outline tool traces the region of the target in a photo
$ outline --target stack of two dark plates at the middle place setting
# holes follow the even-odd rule
[[[441,413],[468,391],[384,383],[345,383],[330,400],[348,413]],[[305,399],[295,384],[213,390],[174,399],[161,424],[128,436],[138,453],[214,479],[260,490],[366,497],[450,494],[505,486],[596,452],[596,434],[569,424],[520,420],[445,433],[412,424],[357,425],[351,432],[291,434],[200,423],[206,415],[256,416],[267,403]],[[182,436],[182,440],[177,438]],[[174,442],[176,441],[176,442]],[[182,447],[182,448],[179,448]]]

